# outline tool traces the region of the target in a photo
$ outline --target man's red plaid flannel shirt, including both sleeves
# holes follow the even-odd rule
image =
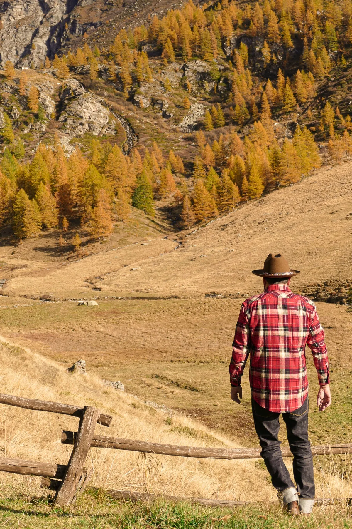
[[[233,386],[249,353],[254,400],[271,412],[292,412],[308,394],[306,344],[311,349],[320,385],[329,384],[325,335],[310,299],[286,285],[270,285],[242,303],[229,367]]]

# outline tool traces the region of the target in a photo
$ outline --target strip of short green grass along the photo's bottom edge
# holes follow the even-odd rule
[[[278,504],[206,508],[185,502],[131,503],[111,500],[101,492],[80,495],[66,510],[51,507],[47,497],[15,496],[0,499],[4,527],[70,529],[298,529],[352,527],[348,507],[315,507],[308,518],[292,518]]]

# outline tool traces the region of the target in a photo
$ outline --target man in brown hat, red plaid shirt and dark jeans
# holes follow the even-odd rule
[[[315,496],[313,458],[308,440],[308,380],[306,344],[311,349],[320,389],[317,406],[324,411],[331,404],[327,349],[315,305],[293,294],[288,261],[278,253],[269,256],[263,270],[264,292],[242,303],[233,341],[229,367],[231,398],[240,404],[241,377],[250,357],[250,386],[255,431],[258,434],[271,481],[290,514],[308,515]],[[279,417],[286,423],[293,454],[294,487],[282,460]]]

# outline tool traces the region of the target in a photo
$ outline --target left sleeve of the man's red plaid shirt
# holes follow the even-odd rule
[[[232,344],[232,358],[229,366],[232,386],[240,386],[244,366],[250,353],[250,329],[246,307],[242,303]]]

